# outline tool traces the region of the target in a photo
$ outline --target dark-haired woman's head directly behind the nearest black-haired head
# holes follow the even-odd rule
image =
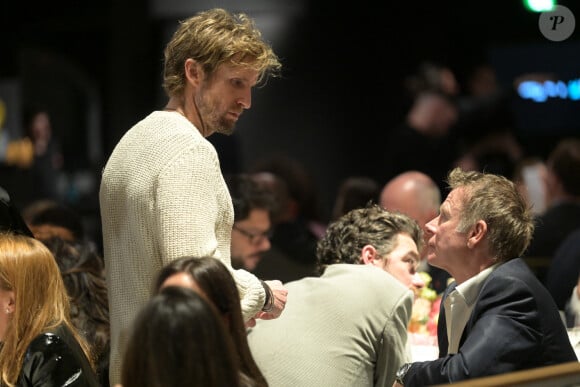
[[[256,387],[268,385],[248,346],[238,289],[221,261],[212,257],[178,258],[161,269],[153,292],[157,293],[167,286],[191,288],[211,301],[223,317],[233,340],[242,374],[251,379]]]

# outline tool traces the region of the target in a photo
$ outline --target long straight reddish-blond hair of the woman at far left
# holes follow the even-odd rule
[[[0,234],[0,288],[14,292],[16,305],[0,350],[1,385],[15,385],[30,343],[60,325],[70,330],[92,360],[90,347],[69,320],[69,300],[60,270],[42,242]]]

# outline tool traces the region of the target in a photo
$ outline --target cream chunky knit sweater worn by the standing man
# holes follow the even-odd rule
[[[180,256],[213,256],[231,268],[233,206],[215,148],[185,117],[156,111],[119,141],[99,192],[111,320],[111,385],[153,280]],[[260,281],[232,274],[247,321],[264,304]]]

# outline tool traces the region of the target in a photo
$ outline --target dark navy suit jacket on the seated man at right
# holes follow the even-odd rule
[[[445,291],[443,301],[455,289]],[[447,354],[445,308],[438,325],[439,359],[414,363],[405,386],[427,386],[577,361],[554,300],[519,258],[485,280],[457,354]]]

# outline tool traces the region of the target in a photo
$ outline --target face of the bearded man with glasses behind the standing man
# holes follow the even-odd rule
[[[235,268],[248,271],[256,268],[262,254],[270,249],[270,226],[270,214],[260,208],[251,210],[246,219],[234,223],[231,256]]]

